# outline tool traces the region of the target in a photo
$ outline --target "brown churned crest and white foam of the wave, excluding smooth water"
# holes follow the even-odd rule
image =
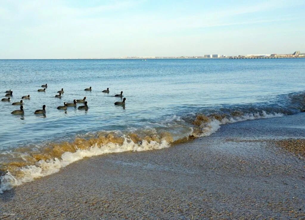
[[[4,166],[6,172],[0,177],[0,193],[19,186],[25,182],[56,173],[60,168],[81,160],[105,153],[120,153],[125,151],[145,151],[169,147],[171,144],[192,140],[197,137],[209,136],[216,132],[222,124],[260,118],[282,117],[282,113],[265,111],[255,114],[244,114],[234,111],[231,114],[197,115],[192,124],[187,127],[191,132],[184,133],[180,139],[173,139],[173,133],[156,132],[155,129],[135,129],[132,133],[123,134],[118,131],[88,133],[85,138],[76,137],[74,142],[49,143],[41,149],[23,148],[13,153],[13,159]],[[177,118],[175,118],[177,119]],[[177,121],[177,120],[175,120]],[[183,120],[179,120],[184,123]],[[172,124],[172,132],[177,129]],[[16,156],[18,155],[18,156]],[[16,160],[18,159],[19,160]]]

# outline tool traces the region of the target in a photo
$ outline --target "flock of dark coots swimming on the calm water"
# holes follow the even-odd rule
[[[48,84],[41,85],[41,87],[43,89],[38,89],[37,91],[38,92],[45,92],[46,88],[48,88]],[[90,86],[90,88],[85,88],[84,90],[85,91],[92,91],[91,86]],[[107,88],[106,90],[103,90],[102,92],[109,93],[109,88]],[[1,99],[1,101],[2,102],[9,102],[11,100],[11,96],[13,96],[13,91],[8,90],[5,93],[6,93],[5,97],[8,97],[8,98],[3,98],[3,99]],[[61,98],[62,94],[64,93],[63,88],[60,91],[58,91],[58,93],[59,94],[56,95],[55,97],[56,98]],[[121,91],[120,94],[115,95],[115,97],[123,97],[123,91]],[[21,99],[30,99],[30,95],[22,96]],[[88,108],[89,108],[88,107],[88,102],[85,101],[85,100],[86,100],[86,97],[84,97],[84,99],[74,99],[73,103],[66,103],[66,102],[64,102],[64,105],[63,106],[58,106],[57,109],[66,110],[70,106],[71,107],[76,107],[77,103],[84,103],[83,106],[78,106],[78,109],[79,110],[88,110]],[[126,98],[124,98],[122,102],[115,102],[114,104],[115,105],[125,105],[125,100],[126,100]],[[11,114],[24,114],[23,100],[20,100],[20,102],[14,102],[14,103],[12,103],[12,105],[20,105],[20,110],[14,110],[14,111],[11,112]],[[34,114],[45,114],[45,107],[46,106],[43,105],[42,109],[36,110],[34,112]]]

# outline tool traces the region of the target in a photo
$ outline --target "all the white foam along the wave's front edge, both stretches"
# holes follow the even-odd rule
[[[238,117],[223,118],[221,121],[213,119],[210,122],[201,124],[200,128],[202,129],[202,133],[200,136],[209,136],[213,134],[220,128],[221,124],[282,116],[283,114],[281,113],[267,114],[263,111],[261,114],[245,114]],[[193,128],[191,127],[190,130],[193,131]],[[24,173],[24,175],[20,178],[13,176],[10,172],[6,173],[1,177],[0,193],[3,193],[5,190],[12,189],[14,186],[19,186],[25,182],[31,182],[36,178],[56,173],[60,170],[60,168],[66,167],[67,165],[77,160],[81,160],[84,157],[92,157],[105,153],[119,153],[124,151],[162,149],[169,146],[170,145],[166,140],[162,140],[161,143],[156,141],[147,142],[146,140],[143,140],[141,145],[139,145],[124,136],[124,142],[122,145],[116,143],[108,143],[101,146],[91,146],[87,150],[78,149],[74,153],[65,152],[62,154],[61,158],[55,158],[52,160],[40,160],[35,165],[20,168],[20,171]]]

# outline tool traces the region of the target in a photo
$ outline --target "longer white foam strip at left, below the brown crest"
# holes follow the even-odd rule
[[[20,167],[18,171],[22,173],[19,177],[13,175],[11,172],[7,172],[1,177],[0,193],[5,190],[12,189],[14,186],[19,186],[25,182],[31,182],[36,178],[47,176],[56,173],[60,168],[81,160],[84,157],[92,157],[105,153],[119,153],[124,151],[144,151],[155,150],[169,147],[167,140],[163,139],[159,142],[151,140],[141,141],[141,144],[133,142],[131,139],[124,136],[123,144],[109,142],[98,146],[89,147],[88,149],[77,149],[75,152],[65,152],[61,155],[61,158],[54,158],[49,160],[39,160],[34,165]]]

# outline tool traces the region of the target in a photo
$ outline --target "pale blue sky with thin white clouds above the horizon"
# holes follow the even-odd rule
[[[0,59],[305,53],[304,12],[304,0],[0,0]]]

